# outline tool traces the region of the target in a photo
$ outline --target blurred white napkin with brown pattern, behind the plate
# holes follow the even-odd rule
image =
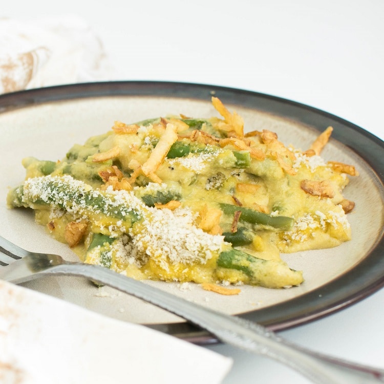
[[[0,94],[114,74],[99,37],[75,15],[0,18],[0,47]]]

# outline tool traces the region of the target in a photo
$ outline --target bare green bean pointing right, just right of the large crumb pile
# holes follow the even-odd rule
[[[291,230],[294,224],[294,219],[286,216],[270,216],[250,208],[225,203],[220,203],[220,207],[224,214],[228,216],[232,216],[234,212],[240,210],[241,215],[239,221],[241,222],[265,225],[281,231]]]

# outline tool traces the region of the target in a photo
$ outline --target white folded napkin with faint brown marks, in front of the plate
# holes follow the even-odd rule
[[[215,384],[232,361],[0,281],[1,384]]]

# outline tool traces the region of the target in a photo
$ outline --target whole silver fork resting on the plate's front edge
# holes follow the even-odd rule
[[[29,252],[0,237],[0,279],[15,284],[45,275],[83,276],[134,295],[198,325],[221,342],[273,358],[318,384],[384,382],[384,370],[294,345],[259,324],[190,303],[107,268],[71,263],[55,254]]]

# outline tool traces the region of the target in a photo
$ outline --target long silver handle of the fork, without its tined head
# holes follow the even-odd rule
[[[318,384],[384,382],[384,370],[312,352],[261,325],[188,302],[104,267],[73,263],[58,265],[41,273],[85,276],[141,298],[206,329],[222,342],[280,361]]]

